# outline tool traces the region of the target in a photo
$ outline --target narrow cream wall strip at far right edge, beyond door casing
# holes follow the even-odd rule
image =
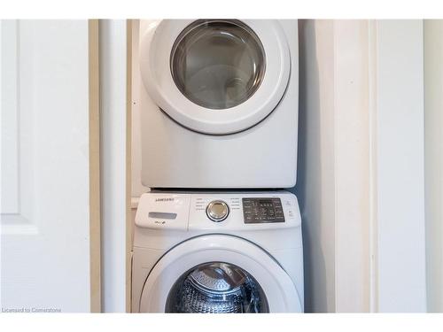
[[[428,310],[443,312],[443,20],[424,21],[424,152]]]

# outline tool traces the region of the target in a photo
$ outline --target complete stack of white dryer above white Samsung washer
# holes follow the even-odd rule
[[[132,311],[303,312],[296,20],[141,20]]]

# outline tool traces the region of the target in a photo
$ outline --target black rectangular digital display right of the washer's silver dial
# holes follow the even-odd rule
[[[242,198],[245,224],[284,222],[282,202],[278,197]]]

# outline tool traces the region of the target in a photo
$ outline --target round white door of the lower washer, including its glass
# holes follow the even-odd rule
[[[267,252],[230,235],[203,235],[153,267],[142,313],[300,313],[291,278]]]

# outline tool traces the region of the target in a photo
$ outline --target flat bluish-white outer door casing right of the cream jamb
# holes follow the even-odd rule
[[[377,220],[371,309],[425,312],[423,20],[377,20],[371,29],[371,167],[377,178],[371,182]]]

